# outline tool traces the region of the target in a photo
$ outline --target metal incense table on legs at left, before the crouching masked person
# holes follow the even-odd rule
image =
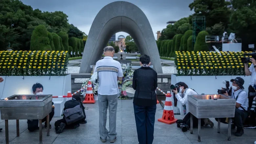
[[[19,119],[39,119],[39,142],[43,143],[42,119],[47,116],[47,136],[50,135],[49,113],[52,112],[53,95],[12,95],[0,100],[1,119],[5,120],[5,139],[9,144],[8,120],[16,119],[19,136]]]

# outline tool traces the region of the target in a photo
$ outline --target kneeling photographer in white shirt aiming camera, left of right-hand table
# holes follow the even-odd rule
[[[187,113],[188,112],[187,96],[192,94],[193,95],[198,94],[198,93],[193,89],[189,89],[184,82],[178,82],[177,84],[175,84],[175,86],[171,85],[171,90],[173,91],[173,93],[175,93],[175,96],[178,99],[178,101],[181,102],[183,112],[184,114],[186,114],[183,119],[176,121],[177,127],[180,127],[183,132],[186,132],[190,128],[190,114],[191,114],[191,113]],[[202,126],[210,125],[211,127],[214,126],[213,122],[209,118],[204,118],[201,121],[201,125]],[[193,116],[193,127],[197,127],[197,126],[198,126],[198,119],[195,116]]]

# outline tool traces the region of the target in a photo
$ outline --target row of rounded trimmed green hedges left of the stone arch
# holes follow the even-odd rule
[[[44,25],[39,25],[34,29],[30,43],[31,51],[68,51],[69,55],[72,51],[73,57],[74,52],[75,56],[79,56],[84,51],[82,39],[69,38],[64,31],[58,34],[50,33]]]

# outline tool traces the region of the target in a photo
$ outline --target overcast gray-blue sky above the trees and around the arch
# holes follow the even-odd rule
[[[79,30],[89,33],[93,20],[99,10],[115,0],[21,0],[33,9],[42,11],[63,11],[68,15],[70,24],[74,24]],[[125,0],[138,6],[147,16],[152,27],[155,39],[157,31],[162,31],[170,20],[179,20],[193,13],[188,5],[193,0]],[[125,32],[118,35],[127,36]]]

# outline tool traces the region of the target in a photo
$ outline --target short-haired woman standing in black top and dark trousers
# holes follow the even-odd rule
[[[150,57],[139,58],[141,68],[134,71],[133,107],[139,144],[152,144],[154,139],[155,114],[157,109],[157,72],[151,69]]]

